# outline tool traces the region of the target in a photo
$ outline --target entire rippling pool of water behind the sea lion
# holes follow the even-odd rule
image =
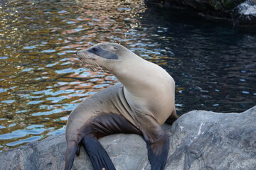
[[[256,105],[256,30],[143,1],[0,1],[0,150],[65,132],[82,100],[117,84],[75,52],[118,42],[176,81],[178,114]]]

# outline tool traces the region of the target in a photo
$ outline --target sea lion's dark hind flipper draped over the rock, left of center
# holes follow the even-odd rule
[[[85,147],[85,152],[90,157],[94,169],[115,169],[109,155],[98,140],[93,137],[83,137],[82,145]]]

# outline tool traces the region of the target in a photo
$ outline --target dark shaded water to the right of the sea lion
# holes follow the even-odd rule
[[[176,80],[179,113],[239,113],[255,106],[256,28],[235,28],[192,11],[153,6],[144,14],[144,24],[150,18],[158,21],[152,23],[151,33],[161,37],[156,40],[161,49],[170,49],[166,55],[171,60],[162,67]]]

